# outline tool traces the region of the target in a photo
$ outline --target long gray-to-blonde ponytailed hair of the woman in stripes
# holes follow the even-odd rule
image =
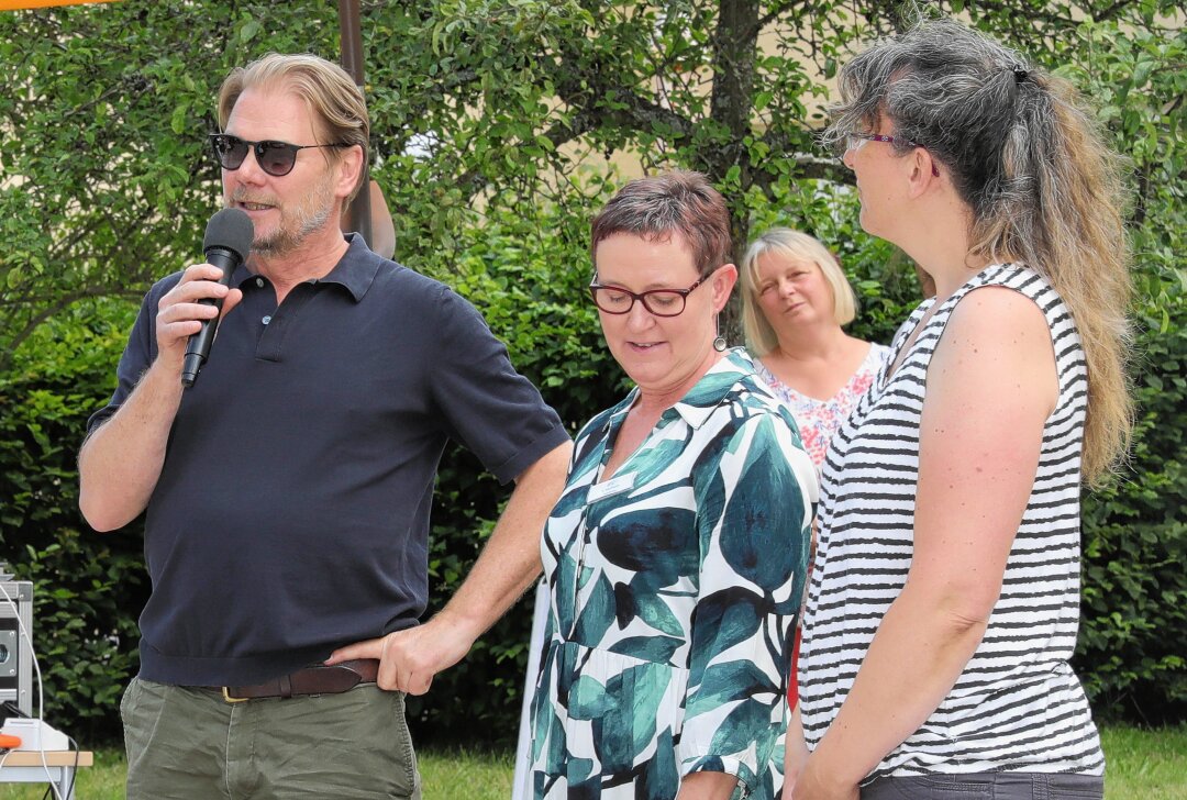
[[[842,69],[840,93],[825,139],[884,114],[947,169],[972,211],[970,255],[1026,264],[1067,305],[1088,374],[1084,474],[1099,484],[1132,430],[1123,159],[1071,83],[953,20],[880,40]]]

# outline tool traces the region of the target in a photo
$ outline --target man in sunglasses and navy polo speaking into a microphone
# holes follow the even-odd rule
[[[250,217],[252,254],[230,288],[209,264],[153,286],[80,455],[88,522],[146,513],[128,798],[419,798],[404,694],[539,572],[569,437],[470,304],[339,231],[369,129],[349,75],[267,56],[231,72],[218,114],[224,202]],[[208,298],[218,337],[183,391]],[[418,626],[449,439],[516,488]]]

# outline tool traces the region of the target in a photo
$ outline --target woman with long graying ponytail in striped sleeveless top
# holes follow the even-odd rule
[[[1080,483],[1131,424],[1118,159],[1068,83],[954,21],[840,91],[862,227],[935,297],[824,466],[793,796],[1100,798],[1068,660]]]

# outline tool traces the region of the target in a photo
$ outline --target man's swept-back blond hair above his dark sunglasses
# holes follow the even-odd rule
[[[319,56],[310,53],[268,53],[247,66],[236,66],[218,90],[218,127],[226,128],[240,96],[248,89],[285,89],[303,101],[313,114],[315,133],[324,144],[357,145],[367,164],[370,119],[367,100],[350,75]],[[296,142],[294,142],[296,144]],[[323,144],[323,142],[318,142]],[[326,158],[339,157],[336,148],[322,151]],[[360,171],[345,202],[350,203],[362,188],[366,171]]]

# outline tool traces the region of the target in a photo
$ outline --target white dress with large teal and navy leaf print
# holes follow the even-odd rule
[[[534,795],[671,800],[711,770],[770,799],[815,470],[736,349],[599,481],[636,398],[580,431],[545,527]]]

